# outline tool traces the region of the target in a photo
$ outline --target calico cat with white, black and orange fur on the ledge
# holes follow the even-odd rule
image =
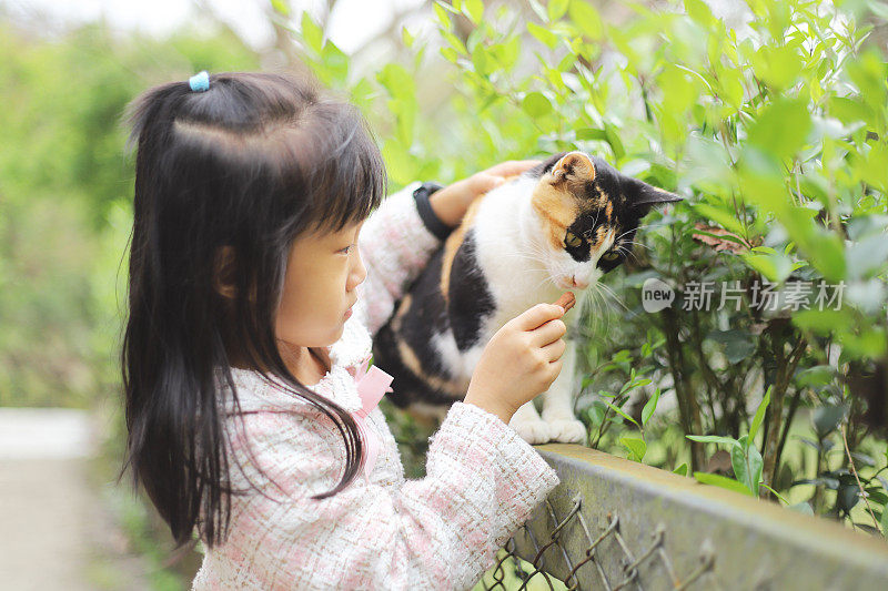
[[[599,157],[562,153],[475,200],[376,335],[373,363],[394,376],[389,398],[443,420],[462,400],[482,350],[506,322],[576,292],[568,335],[588,288],[628,255],[638,222],[682,197],[625,176]],[[531,444],[585,442],[574,415],[576,344],[562,371],[512,426]]]

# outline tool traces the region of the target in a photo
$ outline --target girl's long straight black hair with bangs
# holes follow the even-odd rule
[[[313,498],[357,475],[354,419],[291,375],[274,326],[293,240],[366,218],[385,194],[385,169],[360,112],[307,79],[219,73],[204,92],[172,82],[133,101],[128,120],[137,159],[123,469],[179,544],[196,527],[212,547],[226,537],[234,492],[221,401],[228,387],[240,409],[235,359],[339,428],[345,472]]]

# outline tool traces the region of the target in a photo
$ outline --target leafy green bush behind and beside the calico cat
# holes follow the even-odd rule
[[[609,312],[583,335],[591,445],[680,472],[686,459],[700,480],[748,493],[813,491],[803,510],[840,518],[857,506],[855,521],[878,531],[888,65],[866,22],[886,7],[749,0],[747,18],[726,23],[702,0],[435,2],[436,33],[404,30],[411,58],[373,72],[350,68],[307,16],[294,39],[364,109],[396,185],[583,150],[684,195],[650,214],[633,261],[596,295]],[[654,277],[678,297],[647,314],[639,287]],[[627,404],[658,384],[645,409]],[[644,434],[666,396],[680,438],[663,424]],[[800,409],[809,427],[794,426]],[[731,445],[734,478],[705,473],[713,437]]]

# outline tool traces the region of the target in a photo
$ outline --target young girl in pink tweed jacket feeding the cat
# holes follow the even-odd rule
[[[130,115],[137,483],[178,543],[203,541],[195,589],[471,588],[559,482],[508,421],[561,370],[564,309],[539,304],[491,339],[421,480],[375,407],[390,380],[366,366],[440,227],[534,162],[383,201],[355,108],[299,79],[202,74]]]

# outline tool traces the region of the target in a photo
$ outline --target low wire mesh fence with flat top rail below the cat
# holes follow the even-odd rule
[[[888,589],[888,543],[579,446],[537,448],[562,482],[481,590]]]

